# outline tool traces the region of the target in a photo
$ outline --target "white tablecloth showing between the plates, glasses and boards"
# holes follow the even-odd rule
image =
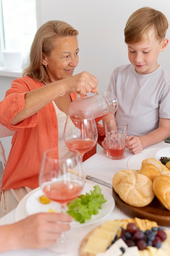
[[[158,144],[147,147],[147,149],[148,148],[164,148],[169,146],[170,144],[168,143],[160,142]],[[98,153],[96,153],[95,155],[93,155],[83,163],[84,173],[86,175],[91,175],[93,177],[97,177],[106,182],[112,183],[113,175],[119,170],[127,169],[128,160],[132,156],[133,155],[126,149],[124,159],[120,159],[120,160],[108,159],[107,155],[104,153],[104,150],[101,149]],[[90,180],[86,180],[86,182],[94,185],[96,184],[95,182],[92,182]],[[112,189],[100,184],[99,186],[102,189],[107,190],[110,194],[112,194]],[[126,217],[127,216],[123,212],[121,212],[119,209],[117,209],[117,207],[115,207],[115,209],[110,214],[110,216],[107,217],[107,219],[113,220],[113,219],[122,219]],[[0,219],[0,225],[10,224],[13,222],[15,222],[15,209]],[[104,222],[104,220],[102,220],[102,222]],[[83,240],[84,236],[86,236],[86,234],[88,234],[89,231],[91,231],[92,229],[94,229],[100,224],[101,222],[99,221],[95,224],[91,224],[83,227],[74,227],[74,228],[72,227],[70,231],[68,231],[68,235],[70,237],[72,234],[77,235],[79,238],[79,243],[77,244],[76,253],[74,252],[73,254],[72,253],[67,254],[67,256],[78,256],[79,245]],[[15,250],[11,252],[1,253],[0,256],[56,256],[56,254],[54,252],[51,252],[48,249],[33,249],[33,250],[20,249],[20,250]]]

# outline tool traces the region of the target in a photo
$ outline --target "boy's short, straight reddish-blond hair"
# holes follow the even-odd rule
[[[132,13],[124,29],[125,43],[139,43],[150,29],[155,30],[155,38],[159,43],[165,39],[168,29],[166,16],[150,7],[143,7]]]

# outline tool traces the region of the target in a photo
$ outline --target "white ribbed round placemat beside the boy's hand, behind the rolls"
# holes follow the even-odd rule
[[[155,154],[160,149],[161,148],[148,148],[148,149],[144,149],[139,154],[133,155],[128,160],[128,169],[140,170],[142,161],[150,157],[155,158]],[[166,148],[163,148],[163,149],[166,149]]]

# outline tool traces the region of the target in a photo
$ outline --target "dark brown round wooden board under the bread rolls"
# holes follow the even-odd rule
[[[158,225],[170,227],[170,211],[166,209],[155,197],[153,201],[145,207],[133,207],[126,204],[119,198],[119,195],[113,189],[113,197],[116,206],[131,218],[141,218],[156,221]]]

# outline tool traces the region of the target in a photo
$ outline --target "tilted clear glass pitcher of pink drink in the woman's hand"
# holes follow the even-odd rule
[[[99,94],[98,92],[93,96],[86,96],[79,98],[71,102],[69,105],[69,115],[74,112],[82,112],[93,114],[96,123],[103,119],[108,114],[114,114],[117,111],[118,102],[115,95],[112,92],[104,92]]]

